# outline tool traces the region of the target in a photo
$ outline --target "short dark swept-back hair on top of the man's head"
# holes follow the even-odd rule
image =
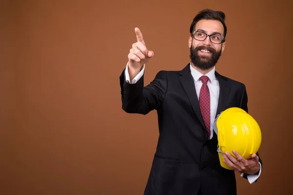
[[[190,25],[190,34],[192,35],[195,24],[199,20],[218,20],[220,21],[224,26],[224,35],[223,37],[226,37],[227,34],[227,27],[225,24],[226,15],[222,11],[213,11],[211,9],[204,9],[200,11],[193,19],[191,25]]]

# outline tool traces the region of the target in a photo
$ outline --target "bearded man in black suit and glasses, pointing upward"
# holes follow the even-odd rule
[[[181,71],[160,71],[145,87],[145,64],[154,52],[135,28],[137,42],[120,76],[122,108],[143,115],[156,110],[160,133],[144,195],[236,195],[235,171],[250,183],[260,176],[258,153],[250,159],[225,153],[228,170],[217,152],[216,116],[230,107],[248,112],[245,85],[215,71],[226,46],[225,17],[221,11],[199,12],[190,26],[190,63]]]

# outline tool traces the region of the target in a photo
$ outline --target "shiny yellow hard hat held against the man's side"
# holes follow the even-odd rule
[[[260,127],[254,118],[240,108],[228,108],[215,119],[213,129],[218,136],[218,155],[221,166],[231,168],[223,161],[223,153],[229,152],[237,157],[232,150],[237,151],[245,159],[255,154],[261,143]]]

